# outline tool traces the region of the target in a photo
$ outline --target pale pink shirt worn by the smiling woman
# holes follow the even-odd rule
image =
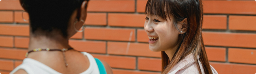
[[[197,56],[199,59],[199,56]],[[198,60],[201,72],[204,73],[202,63]],[[211,66],[211,65],[210,65]],[[212,74],[218,74],[217,71],[211,66]],[[197,70],[197,64],[195,63],[194,56],[192,54],[186,56],[183,60],[178,62],[168,74],[199,74]]]

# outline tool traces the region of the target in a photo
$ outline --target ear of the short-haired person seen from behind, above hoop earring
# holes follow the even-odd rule
[[[80,7],[80,12],[78,12],[78,13],[80,13],[80,16],[78,15],[78,17],[80,17],[78,21],[80,21],[80,20],[85,21],[85,19],[87,17],[87,6],[88,6],[88,1],[87,0],[83,1],[82,5]]]

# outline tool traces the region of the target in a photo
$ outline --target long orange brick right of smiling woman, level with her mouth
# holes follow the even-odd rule
[[[256,48],[256,34],[203,32],[205,45]]]

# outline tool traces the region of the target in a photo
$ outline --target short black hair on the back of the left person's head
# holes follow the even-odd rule
[[[59,31],[66,38],[70,17],[83,1],[20,0],[20,3],[29,13],[30,32],[33,36],[52,37],[52,31]]]

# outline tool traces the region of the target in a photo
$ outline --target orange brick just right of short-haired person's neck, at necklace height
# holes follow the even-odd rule
[[[106,53],[106,42],[102,41],[69,40],[69,44],[78,51],[102,54]]]

